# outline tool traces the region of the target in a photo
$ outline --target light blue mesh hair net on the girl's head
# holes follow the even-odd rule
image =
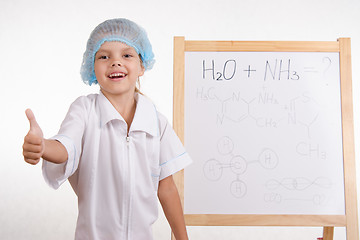
[[[106,41],[119,41],[133,47],[140,55],[145,70],[153,67],[154,53],[145,30],[128,19],[111,19],[99,24],[90,34],[80,70],[85,83],[98,83],[94,72],[95,54]]]

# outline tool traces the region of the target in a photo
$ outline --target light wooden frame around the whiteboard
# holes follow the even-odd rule
[[[333,239],[334,227],[346,227],[348,240],[359,239],[350,38],[338,41],[185,41],[174,38],[173,127],[184,143],[185,52],[338,52],[343,134],[345,215],[185,214],[187,226],[317,226],[324,240]],[[184,171],[174,176],[184,204]],[[175,239],[172,236],[172,239]]]

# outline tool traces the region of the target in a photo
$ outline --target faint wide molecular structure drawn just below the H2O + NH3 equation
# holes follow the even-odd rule
[[[216,114],[216,123],[241,123],[246,119],[254,121],[259,128],[279,128],[281,124],[305,127],[308,136],[312,125],[316,122],[320,106],[303,93],[288,102],[281,103],[277,96],[262,87],[258,96],[245,98],[241,92],[229,92],[228,96],[219,96],[213,87],[198,88],[196,96],[202,101],[216,101],[220,108]]]

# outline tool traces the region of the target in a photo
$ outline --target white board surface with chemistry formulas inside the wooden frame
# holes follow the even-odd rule
[[[185,52],[185,214],[344,215],[339,53]]]

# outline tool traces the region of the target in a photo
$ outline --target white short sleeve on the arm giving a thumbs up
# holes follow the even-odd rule
[[[87,99],[80,97],[70,106],[57,135],[50,138],[59,141],[67,150],[68,159],[63,164],[43,160],[42,172],[46,183],[54,189],[60,187],[79,166],[81,142],[86,125]]]

